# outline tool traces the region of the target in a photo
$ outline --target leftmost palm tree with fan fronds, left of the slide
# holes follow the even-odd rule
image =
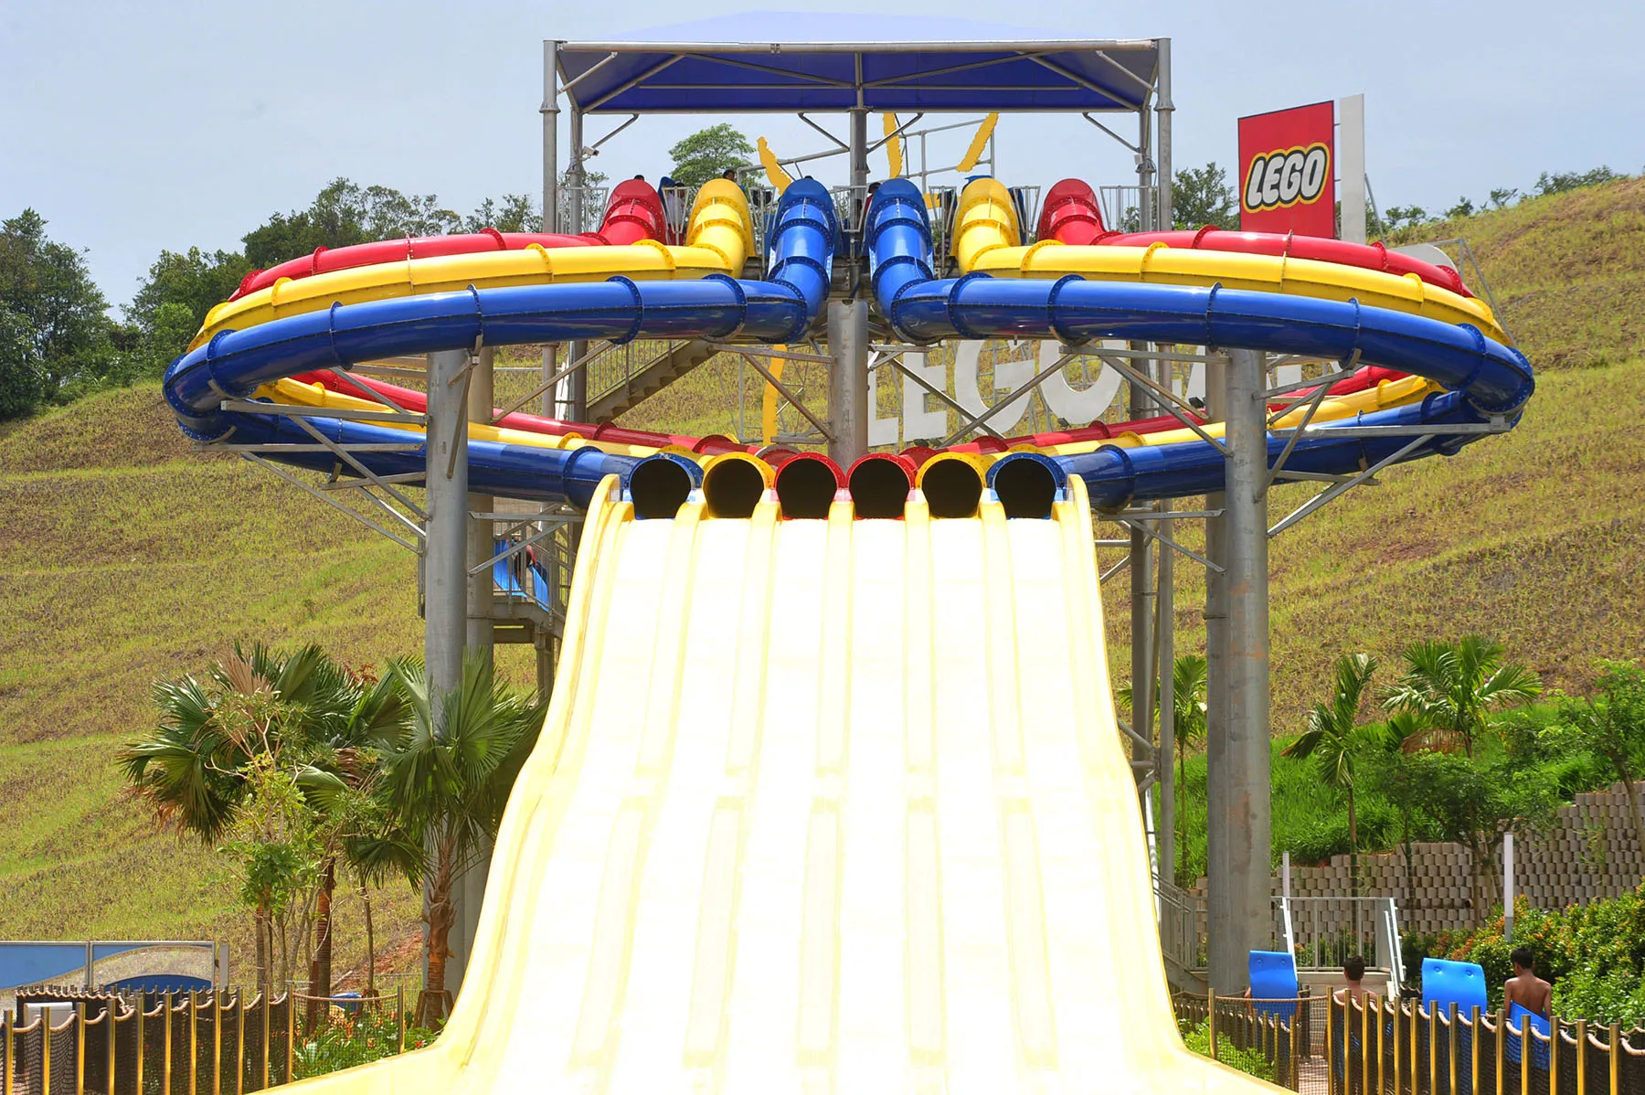
[[[117,765],[161,822],[206,845],[234,824],[257,758],[303,748],[337,718],[344,676],[309,645],[278,654],[262,645],[215,663],[207,681],[192,676],[155,686],[160,718],[150,735],[117,755]],[[268,982],[270,909],[253,909],[257,970]]]

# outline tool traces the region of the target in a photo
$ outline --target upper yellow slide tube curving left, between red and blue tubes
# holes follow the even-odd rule
[[[655,240],[628,247],[544,248],[533,243],[518,252],[408,258],[313,278],[281,278],[266,289],[212,307],[189,349],[204,345],[219,330],[245,330],[281,316],[314,312],[332,304],[452,293],[469,286],[497,289],[551,281],[604,281],[615,275],[637,281],[706,278],[716,273],[740,276],[742,265],[752,253],[748,199],[735,182],[712,179],[697,191],[686,247],[668,247]]]

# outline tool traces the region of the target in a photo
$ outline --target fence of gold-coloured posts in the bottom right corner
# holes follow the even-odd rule
[[[1332,996],[1326,1041],[1331,1095],[1645,1092],[1645,1031],[1615,1024],[1556,1016],[1541,1031],[1504,1011]]]

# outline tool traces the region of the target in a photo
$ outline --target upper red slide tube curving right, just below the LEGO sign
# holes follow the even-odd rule
[[[1229,232],[1212,227],[1204,227],[1198,232],[1186,229],[1170,232],[1109,232],[1102,225],[1097,196],[1082,179],[1063,179],[1046,191],[1045,202],[1040,207],[1040,238],[1097,247],[1148,247],[1152,243],[1165,243],[1168,247],[1202,252],[1286,255],[1291,258],[1337,263],[1341,266],[1380,270],[1392,275],[1413,273],[1428,284],[1451,289],[1462,296],[1474,296],[1454,270],[1390,252],[1382,243],[1349,243],[1347,240],[1326,240],[1293,232],[1286,232],[1285,235],[1278,232]]]

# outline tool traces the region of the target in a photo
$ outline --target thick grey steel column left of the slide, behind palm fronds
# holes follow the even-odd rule
[[[462,649],[469,618],[469,409],[462,401],[467,350],[428,355],[428,534],[423,546],[423,663],[434,717],[444,694],[462,682]],[[464,922],[462,889],[454,888],[457,927]],[[424,901],[428,898],[424,896]],[[426,929],[424,929],[426,931]],[[467,947],[452,931],[446,988],[457,993]],[[424,949],[424,955],[426,955]],[[426,962],[426,957],[424,957]],[[426,973],[426,970],[424,970]]]

